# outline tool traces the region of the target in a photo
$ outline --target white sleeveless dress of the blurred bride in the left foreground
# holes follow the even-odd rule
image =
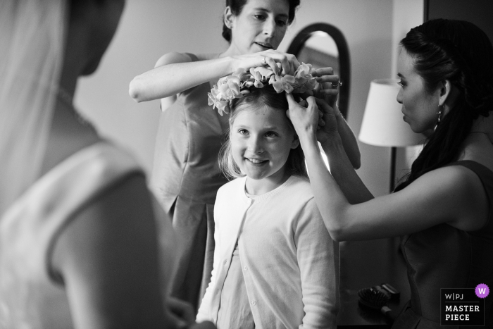
[[[0,218],[0,328],[73,328],[65,289],[50,271],[52,247],[75,212],[130,175],[144,175],[108,142],[77,151],[39,178]],[[154,199],[156,220],[163,209]],[[163,285],[175,245],[169,221],[158,221]],[[166,286],[162,287],[163,294]]]

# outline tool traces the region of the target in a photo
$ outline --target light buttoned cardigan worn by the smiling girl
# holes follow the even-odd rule
[[[310,183],[292,176],[277,189],[249,199],[245,182],[238,178],[218,191],[214,266],[197,321],[217,322],[239,239],[256,328],[336,328],[339,244],[323,224]]]

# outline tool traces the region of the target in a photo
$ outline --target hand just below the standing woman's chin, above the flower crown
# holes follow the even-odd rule
[[[280,63],[282,74],[292,75],[299,66],[296,56],[273,49],[254,54],[231,56],[231,58],[234,59],[231,68],[232,72],[235,72],[238,68],[254,68],[256,66],[268,65],[276,75],[280,75],[280,68],[277,66],[277,63]]]

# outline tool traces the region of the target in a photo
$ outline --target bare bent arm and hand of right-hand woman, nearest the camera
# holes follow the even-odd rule
[[[370,240],[393,237],[440,223],[448,223],[461,230],[475,230],[487,221],[488,204],[478,176],[459,166],[432,170],[404,190],[368,201],[363,198],[363,202],[351,204],[320,156],[316,139],[318,108],[314,104],[311,99],[310,105],[303,108],[294,100],[290,101],[289,116],[299,134],[313,194],[332,238]],[[329,125],[333,125],[334,120],[327,120]],[[342,165],[345,162],[344,166],[350,167],[345,152],[340,151],[340,140],[335,138],[334,141],[339,143]]]

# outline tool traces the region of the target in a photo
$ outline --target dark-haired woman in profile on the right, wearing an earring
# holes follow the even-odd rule
[[[414,132],[435,131],[388,196],[373,198],[352,170],[330,106],[290,99],[289,116],[332,237],[402,236],[411,301],[393,328],[440,328],[440,288],[493,286],[492,44],[472,23],[430,20],[401,40],[399,77],[404,120]],[[318,132],[316,104],[327,123]],[[315,152],[317,138],[332,175]],[[487,328],[492,302],[485,299]]]

